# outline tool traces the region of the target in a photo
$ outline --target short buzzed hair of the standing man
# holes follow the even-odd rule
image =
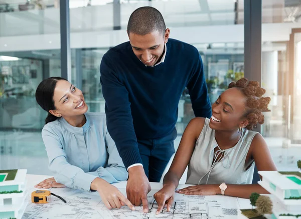
[[[139,7],[132,12],[127,23],[127,32],[145,35],[158,30],[165,34],[164,18],[155,7]]]

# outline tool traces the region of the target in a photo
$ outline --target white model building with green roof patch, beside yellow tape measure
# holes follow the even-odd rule
[[[25,207],[26,169],[0,170],[0,218],[21,218]]]

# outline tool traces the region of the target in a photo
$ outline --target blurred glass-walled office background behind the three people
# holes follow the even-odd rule
[[[278,169],[296,170],[301,158],[301,0],[260,2],[261,83],[272,99],[261,133]],[[172,38],[199,49],[212,102],[229,82],[244,76],[244,0],[70,0],[69,79],[83,91],[89,111],[104,111],[103,54],[128,40],[129,15],[144,5],[162,12]],[[59,0],[0,0],[0,169],[51,174],[41,137],[47,113],[36,103],[35,90],[42,79],[61,76],[60,36]],[[193,117],[184,90],[176,147]]]

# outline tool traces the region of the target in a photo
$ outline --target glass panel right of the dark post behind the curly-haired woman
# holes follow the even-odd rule
[[[271,97],[262,135],[277,168],[290,171],[298,170],[296,163],[301,159],[297,61],[301,20],[295,3],[262,0],[262,86]]]

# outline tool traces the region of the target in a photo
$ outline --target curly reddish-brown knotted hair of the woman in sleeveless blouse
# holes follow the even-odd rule
[[[267,110],[267,105],[271,101],[271,98],[262,97],[265,89],[259,87],[259,82],[241,78],[236,82],[231,82],[228,87],[237,87],[247,96],[246,106],[248,109],[245,116],[249,120],[249,124],[246,128],[252,130],[255,124],[263,124],[264,115],[262,111]]]

